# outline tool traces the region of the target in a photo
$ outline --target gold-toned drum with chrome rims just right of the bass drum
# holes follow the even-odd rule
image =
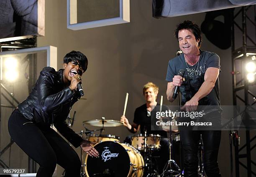
[[[147,135],[146,136],[146,148],[150,148],[152,150],[160,148],[160,135]],[[144,150],[144,139],[145,136],[143,134],[139,134],[132,137],[132,146],[137,150]]]

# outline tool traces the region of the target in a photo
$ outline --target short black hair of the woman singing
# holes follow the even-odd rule
[[[82,52],[72,50],[71,52],[67,53],[64,57],[64,63],[68,64],[69,62],[78,62],[83,68],[84,72],[87,70],[88,59]]]

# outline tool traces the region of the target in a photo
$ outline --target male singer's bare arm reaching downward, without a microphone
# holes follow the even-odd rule
[[[203,97],[208,95],[213,87],[215,86],[215,82],[219,76],[220,70],[217,67],[208,67],[205,72],[204,82],[202,83],[200,89],[197,93],[191,98],[191,100],[186,102],[186,106],[197,106],[198,101],[201,100]]]

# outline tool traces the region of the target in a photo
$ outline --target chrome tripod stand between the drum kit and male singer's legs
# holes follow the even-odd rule
[[[169,158],[168,162],[164,165],[163,173],[161,174],[161,177],[177,177],[181,174],[181,169],[179,168],[179,165],[175,162],[175,160],[172,160],[172,127],[170,125],[170,140],[169,140]],[[175,169],[175,170],[174,170]]]

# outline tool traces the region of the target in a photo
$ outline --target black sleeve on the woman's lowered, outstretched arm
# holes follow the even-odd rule
[[[74,130],[69,128],[65,120],[54,123],[54,127],[64,136],[74,147],[79,147],[82,142],[82,137],[77,135]]]

